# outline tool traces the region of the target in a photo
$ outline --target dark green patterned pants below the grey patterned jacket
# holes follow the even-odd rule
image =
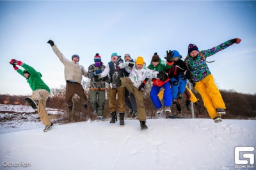
[[[91,102],[93,111],[97,111],[97,115],[102,116],[104,113],[105,90],[90,89],[90,102]]]

